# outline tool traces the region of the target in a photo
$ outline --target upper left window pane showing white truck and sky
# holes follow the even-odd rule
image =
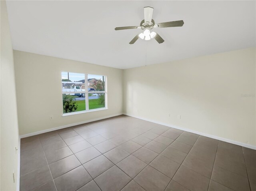
[[[84,74],[62,72],[62,92],[85,92]]]

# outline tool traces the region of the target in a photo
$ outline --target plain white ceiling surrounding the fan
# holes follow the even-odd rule
[[[183,27],[154,29],[165,40],[138,39],[143,7],[156,23],[184,20]],[[133,68],[256,46],[256,1],[7,1],[14,50]]]

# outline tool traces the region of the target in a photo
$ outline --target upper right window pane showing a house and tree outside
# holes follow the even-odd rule
[[[105,76],[88,74],[88,91],[105,91]]]

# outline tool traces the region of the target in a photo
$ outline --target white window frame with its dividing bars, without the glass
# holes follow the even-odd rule
[[[66,71],[62,71],[62,72],[66,72]],[[69,72],[69,73],[77,73],[77,74],[84,74],[84,73],[79,73],[79,72]],[[88,91],[88,75],[96,75],[96,76],[104,76],[104,82],[105,82],[105,91]],[[108,101],[107,101],[107,76],[105,75],[99,75],[99,74],[84,74],[84,85],[85,85],[85,92],[76,92],[78,94],[81,93],[85,93],[85,110],[83,111],[74,111],[74,112],[70,112],[70,113],[63,113],[63,100],[62,100],[62,116],[67,116],[67,115],[74,115],[74,114],[79,114],[79,113],[88,113],[88,112],[92,112],[92,111],[99,111],[99,110],[104,110],[104,109],[108,109]],[[62,79],[61,79],[61,83],[62,83]],[[62,90],[61,90],[62,92]],[[89,109],[89,94],[100,94],[100,93],[104,93],[105,94],[105,107],[101,107],[101,108],[97,108],[97,109]],[[67,92],[62,92],[62,94],[67,94]]]

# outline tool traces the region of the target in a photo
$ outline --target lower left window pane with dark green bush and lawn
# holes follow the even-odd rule
[[[63,113],[72,113],[76,111],[84,111],[85,96],[79,97],[74,94],[62,94]]]

